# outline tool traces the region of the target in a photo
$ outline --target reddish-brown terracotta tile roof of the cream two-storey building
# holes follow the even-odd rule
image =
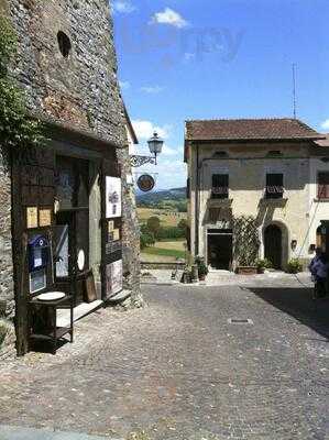
[[[186,121],[187,141],[321,139],[298,119],[219,119]]]

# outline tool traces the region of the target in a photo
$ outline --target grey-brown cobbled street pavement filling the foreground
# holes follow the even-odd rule
[[[0,424],[138,440],[329,439],[328,300],[315,306],[293,278],[144,288],[149,307],[101,310],[56,356],[2,365]]]

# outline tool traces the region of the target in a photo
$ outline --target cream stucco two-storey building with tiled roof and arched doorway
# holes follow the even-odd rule
[[[191,256],[234,270],[234,219],[252,216],[259,257],[305,264],[329,219],[329,146],[296,119],[187,121]]]

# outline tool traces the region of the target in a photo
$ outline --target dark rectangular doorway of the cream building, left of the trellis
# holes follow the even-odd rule
[[[232,266],[232,233],[208,231],[208,264],[216,270],[230,271]]]

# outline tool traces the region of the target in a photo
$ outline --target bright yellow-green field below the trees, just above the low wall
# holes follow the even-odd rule
[[[156,242],[154,246],[145,248],[142,252],[143,262],[175,262],[185,258],[185,241]]]

